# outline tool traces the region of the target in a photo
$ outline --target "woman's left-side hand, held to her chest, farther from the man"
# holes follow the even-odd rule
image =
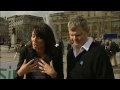
[[[29,73],[29,72],[31,72],[31,71],[33,71],[33,70],[35,70],[37,68],[37,65],[34,63],[34,60],[30,60],[28,63],[26,63],[26,62],[27,61],[24,60],[22,66],[17,71],[17,74],[19,76],[23,76],[24,74],[27,74],[27,73]]]

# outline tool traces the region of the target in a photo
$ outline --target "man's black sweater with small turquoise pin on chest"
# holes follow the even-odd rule
[[[114,79],[110,59],[96,42],[93,42],[89,51],[83,51],[76,58],[73,49],[67,55],[68,79]]]

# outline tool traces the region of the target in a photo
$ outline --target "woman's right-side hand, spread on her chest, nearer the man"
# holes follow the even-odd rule
[[[47,64],[45,61],[40,60],[40,62],[38,62],[39,69],[41,70],[42,73],[46,73],[47,75],[51,76],[51,78],[56,78],[57,73],[53,67],[53,62],[50,62],[50,65]]]

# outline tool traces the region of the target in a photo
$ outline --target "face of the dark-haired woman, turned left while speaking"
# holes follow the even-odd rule
[[[44,40],[39,37],[36,37],[34,32],[32,32],[31,42],[33,49],[35,49],[36,51],[43,50],[45,47]]]

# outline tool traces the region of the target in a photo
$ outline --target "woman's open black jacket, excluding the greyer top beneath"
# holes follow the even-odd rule
[[[32,60],[35,57],[38,57],[35,50],[33,50],[32,48],[23,47],[21,52],[20,52],[20,58],[19,58],[19,62],[17,65],[17,70],[21,67],[21,65],[23,64],[25,59],[27,60],[27,62],[29,62],[30,60]],[[57,72],[56,78],[62,79],[62,78],[64,78],[64,76],[63,76],[63,62],[58,57],[59,57],[59,54],[55,53],[54,57],[51,57],[51,60],[53,60],[53,66],[54,66],[55,71]],[[15,78],[16,79],[23,79],[23,76],[20,77],[17,75]],[[30,73],[26,74],[26,79],[34,79],[33,73],[30,72]],[[51,79],[51,77],[46,75],[46,79]]]

